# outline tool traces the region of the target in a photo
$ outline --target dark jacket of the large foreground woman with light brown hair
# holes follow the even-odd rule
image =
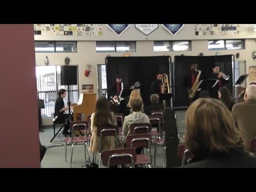
[[[209,155],[201,161],[191,159],[188,165],[181,168],[255,168],[256,158],[250,156],[243,148],[229,151],[229,154]]]

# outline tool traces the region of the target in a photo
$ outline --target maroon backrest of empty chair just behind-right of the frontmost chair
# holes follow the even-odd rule
[[[126,147],[149,148],[151,144],[151,138],[152,137],[149,133],[127,135]]]

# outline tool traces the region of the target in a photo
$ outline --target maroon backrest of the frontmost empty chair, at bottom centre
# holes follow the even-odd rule
[[[135,148],[123,148],[102,151],[102,165],[115,166],[133,164],[137,161]]]

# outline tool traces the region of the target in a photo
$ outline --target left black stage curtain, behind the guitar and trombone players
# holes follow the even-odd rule
[[[167,74],[170,79],[170,56],[107,57],[105,61],[108,89],[115,83],[116,74],[122,76],[125,89],[140,82],[139,89],[145,106],[150,104],[150,84],[156,79],[157,71]]]

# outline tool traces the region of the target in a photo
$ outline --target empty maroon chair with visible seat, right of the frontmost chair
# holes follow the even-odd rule
[[[126,147],[135,147],[137,149],[139,148],[146,148],[149,155],[147,154],[137,154],[137,161],[135,162],[135,165],[145,165],[148,164],[148,166],[154,167],[152,163],[152,156],[151,156],[151,135],[150,134],[133,134],[133,135],[127,135],[126,138]],[[142,150],[143,151],[143,150]]]

